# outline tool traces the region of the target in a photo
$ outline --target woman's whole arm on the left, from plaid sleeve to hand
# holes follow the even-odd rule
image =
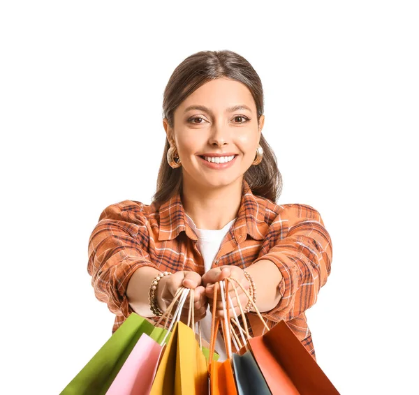
[[[135,207],[136,206],[136,207]],[[107,207],[89,239],[91,285],[100,301],[108,304],[112,313],[128,317],[133,311],[143,317],[153,317],[149,307],[149,287],[164,271],[150,260],[147,253],[149,232],[138,203],[125,200]],[[178,271],[165,276],[157,287],[157,301],[162,311],[172,301],[177,288],[194,288],[196,320],[205,316],[207,300],[200,276],[193,271]],[[187,299],[189,300],[189,298]],[[186,313],[188,310],[186,304]]]

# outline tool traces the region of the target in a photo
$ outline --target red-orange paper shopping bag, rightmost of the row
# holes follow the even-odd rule
[[[249,339],[249,345],[272,394],[339,395],[286,322]]]

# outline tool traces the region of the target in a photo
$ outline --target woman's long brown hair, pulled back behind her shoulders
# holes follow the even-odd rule
[[[216,78],[225,77],[242,82],[251,91],[256,103],[258,126],[263,114],[262,82],[251,64],[239,54],[229,51],[200,51],[182,61],[173,71],[163,94],[163,118],[168,119],[172,128],[176,108],[201,85]],[[282,191],[282,177],[277,158],[269,144],[260,134],[259,144],[263,148],[263,159],[258,165],[251,165],[244,173],[254,195],[276,202]],[[182,166],[173,169],[167,161],[170,148],[168,139],[163,149],[163,158],[157,177],[153,203],[162,204],[175,193],[182,193]],[[256,152],[255,152],[256,155]]]

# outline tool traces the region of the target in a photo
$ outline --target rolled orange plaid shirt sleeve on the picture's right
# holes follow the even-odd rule
[[[271,260],[282,274],[281,299],[262,314],[279,322],[291,320],[316,303],[330,275],[332,240],[323,220],[307,204],[285,204],[272,221],[259,260]]]

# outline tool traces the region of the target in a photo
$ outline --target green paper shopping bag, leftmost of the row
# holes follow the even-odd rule
[[[131,313],[60,395],[104,395],[142,334],[161,343],[167,330]],[[170,338],[166,338],[165,343]]]

